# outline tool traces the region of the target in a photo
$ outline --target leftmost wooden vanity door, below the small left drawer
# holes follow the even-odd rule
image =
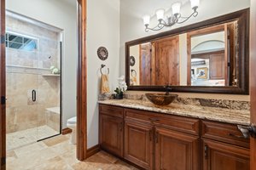
[[[123,119],[100,114],[100,144],[109,152],[123,156]]]

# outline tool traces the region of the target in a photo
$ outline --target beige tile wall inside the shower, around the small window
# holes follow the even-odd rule
[[[38,38],[35,52],[6,48],[6,130],[14,133],[47,125],[49,114],[46,109],[60,106],[60,77],[42,76],[50,74],[51,65],[60,68],[59,33],[10,16],[6,20],[7,31]],[[31,99],[32,89],[37,90],[36,103]],[[55,123],[59,126],[60,119]]]

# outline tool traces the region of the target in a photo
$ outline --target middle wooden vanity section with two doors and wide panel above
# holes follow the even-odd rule
[[[144,169],[198,170],[199,124],[197,119],[125,109],[125,159]]]

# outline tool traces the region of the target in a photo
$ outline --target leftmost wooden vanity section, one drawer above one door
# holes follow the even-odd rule
[[[123,156],[124,119],[123,109],[108,105],[100,105],[99,138],[103,150]]]

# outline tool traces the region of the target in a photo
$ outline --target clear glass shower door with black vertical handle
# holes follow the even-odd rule
[[[17,149],[38,139],[37,40],[16,31],[16,26],[11,25],[14,21],[13,18],[7,17],[7,150]]]

